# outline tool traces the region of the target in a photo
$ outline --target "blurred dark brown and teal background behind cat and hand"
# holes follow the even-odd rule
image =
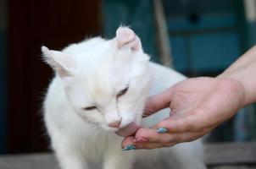
[[[215,76],[256,43],[255,0],[0,0],[0,154],[47,151],[42,99],[53,77],[40,47],[60,50],[129,25],[152,61],[188,77]],[[256,139],[255,106],[210,142]]]

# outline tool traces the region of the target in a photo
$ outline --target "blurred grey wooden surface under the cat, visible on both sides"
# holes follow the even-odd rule
[[[210,169],[256,169],[256,143],[206,144],[205,150]],[[0,168],[59,169],[50,153],[0,156]]]

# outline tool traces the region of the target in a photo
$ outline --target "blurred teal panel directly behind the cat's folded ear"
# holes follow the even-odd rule
[[[142,40],[142,46],[153,61],[156,57],[152,0],[104,0],[103,32],[107,38],[113,38],[120,25],[130,26]]]

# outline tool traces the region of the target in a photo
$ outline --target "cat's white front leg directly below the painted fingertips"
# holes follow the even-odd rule
[[[134,152],[123,151],[120,141],[112,141],[105,151],[103,169],[132,169],[134,164]]]

